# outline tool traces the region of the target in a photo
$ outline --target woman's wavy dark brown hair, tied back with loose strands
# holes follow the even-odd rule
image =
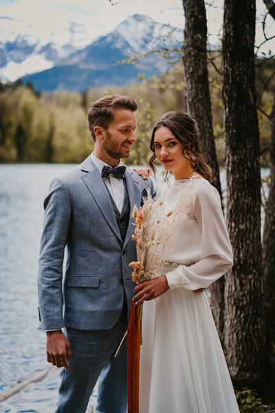
[[[211,168],[207,165],[206,160],[201,154],[201,148],[199,145],[199,129],[197,123],[188,114],[181,111],[167,112],[160,118],[154,126],[150,149],[153,151],[153,155],[150,158],[149,165],[155,173],[155,165],[153,161],[155,160],[155,131],[159,127],[166,126],[170,129],[172,134],[177,138],[177,140],[184,145],[184,151],[182,155],[186,158],[195,172],[199,173],[203,178],[211,181]],[[164,176],[165,180],[168,180],[168,171]]]

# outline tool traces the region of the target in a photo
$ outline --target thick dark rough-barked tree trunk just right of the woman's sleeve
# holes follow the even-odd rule
[[[234,253],[234,266],[225,275],[225,354],[234,383],[250,387],[257,384],[263,362],[255,19],[255,0],[224,1],[223,123],[228,232]]]

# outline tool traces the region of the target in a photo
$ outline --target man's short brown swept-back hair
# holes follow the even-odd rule
[[[115,117],[115,109],[130,109],[132,112],[137,110],[137,101],[129,96],[107,95],[91,103],[88,110],[88,129],[91,138],[96,141],[94,127],[100,126],[108,129]]]

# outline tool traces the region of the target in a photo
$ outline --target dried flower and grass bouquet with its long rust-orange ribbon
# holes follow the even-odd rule
[[[148,191],[143,198],[144,204],[133,209],[135,233],[132,235],[137,248],[137,261],[129,264],[133,268],[133,281],[137,284],[158,275],[168,262],[172,249],[170,240],[175,235],[179,224],[186,214],[188,204],[194,199],[194,178],[179,188],[178,200],[173,208],[166,210],[164,201],[154,200]],[[139,411],[140,383],[140,344],[142,344],[142,308],[143,303],[135,306],[132,303],[131,319],[127,339],[127,380],[128,380],[128,412]],[[126,332],[126,333],[127,333]],[[125,337],[125,336],[124,336]],[[123,339],[122,339],[123,340]],[[120,344],[121,345],[121,344]]]

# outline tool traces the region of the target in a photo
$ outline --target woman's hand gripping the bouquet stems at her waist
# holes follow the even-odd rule
[[[167,290],[169,290],[169,286],[166,275],[160,275],[136,286],[136,295],[133,297],[133,301],[135,301],[135,304],[142,304],[143,301],[150,301],[159,297],[159,295],[166,293]]]

